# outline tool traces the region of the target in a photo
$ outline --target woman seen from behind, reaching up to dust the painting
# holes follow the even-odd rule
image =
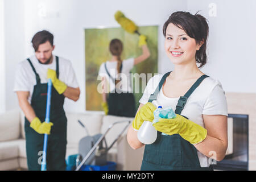
[[[146,43],[146,36],[139,36],[139,47],[142,47],[142,55],[136,58],[121,60],[123,44],[119,39],[113,39],[109,44],[109,51],[112,59],[102,63],[98,74],[102,77],[104,90],[110,85],[110,93],[102,93],[102,107],[105,114],[118,115],[123,117],[135,116],[135,100],[131,88],[129,73],[134,65],[141,63],[150,56]],[[126,79],[118,77],[120,74]],[[108,84],[109,82],[109,84]]]

